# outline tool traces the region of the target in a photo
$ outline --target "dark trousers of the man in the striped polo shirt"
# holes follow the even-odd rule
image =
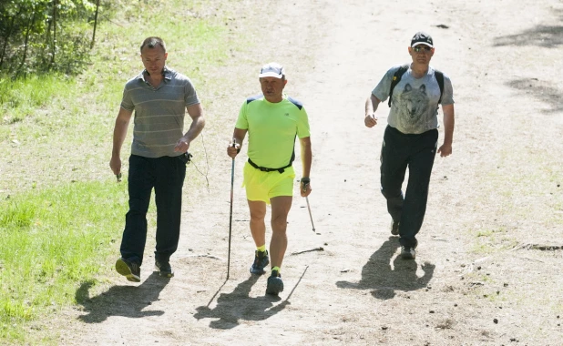
[[[182,187],[186,164],[179,158],[129,157],[129,211],[121,240],[121,257],[143,261],[147,241],[147,211],[152,189],[157,205],[157,246],[155,260],[169,261],[179,241]]]

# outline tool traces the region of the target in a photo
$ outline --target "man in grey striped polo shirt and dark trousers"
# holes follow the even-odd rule
[[[155,264],[160,276],[174,272],[170,256],[178,249],[182,186],[189,159],[189,143],[205,126],[200,99],[187,76],[166,66],[168,53],[159,37],[148,37],[140,46],[145,69],[125,85],[113,134],[109,167],[121,175],[120,152],[133,112],[133,143],[129,157],[129,210],[116,270],[129,281],[140,281],[147,239],[147,211],[152,189],[157,205]],[[188,111],[191,125],[184,133]]]

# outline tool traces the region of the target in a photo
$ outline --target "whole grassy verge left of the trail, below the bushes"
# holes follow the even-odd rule
[[[116,184],[107,163],[123,86],[143,68],[142,40],[164,38],[169,66],[191,78],[207,109],[210,90],[226,78],[210,71],[225,66],[244,39],[225,25],[229,1],[112,4],[101,15],[91,65],[79,75],[0,77],[0,344],[56,343],[57,331],[41,324],[76,304],[82,283],[96,286],[112,270],[128,196],[127,182]],[[219,136],[207,135],[206,143]],[[196,153],[202,144],[194,142]],[[199,173],[190,182],[205,189]]]

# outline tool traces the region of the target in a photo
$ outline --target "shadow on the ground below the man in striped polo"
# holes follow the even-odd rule
[[[160,291],[169,283],[169,279],[161,278],[158,271],[150,274],[139,286],[113,286],[106,292],[89,298],[93,283],[93,280],[83,282],[75,293],[78,304],[87,311],[86,315],[78,317],[81,321],[101,323],[108,316],[141,318],[164,314],[161,310],[144,310],[153,301],[159,300]]]

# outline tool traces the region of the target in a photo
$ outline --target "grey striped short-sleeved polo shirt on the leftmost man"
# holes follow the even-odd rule
[[[131,154],[145,158],[176,157],[174,151],[184,136],[186,107],[200,103],[187,76],[164,67],[164,79],[153,87],[145,71],[128,80],[121,107],[135,111]]]

